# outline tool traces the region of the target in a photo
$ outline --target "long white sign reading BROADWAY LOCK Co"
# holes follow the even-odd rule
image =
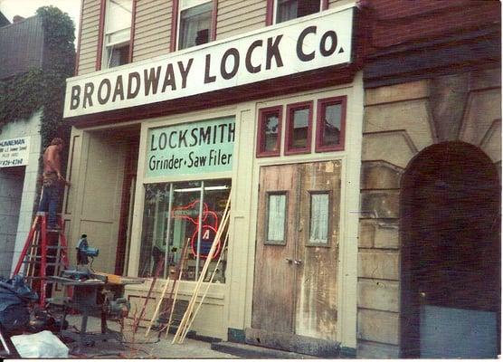
[[[353,7],[67,80],[64,117],[176,100],[351,62]]]

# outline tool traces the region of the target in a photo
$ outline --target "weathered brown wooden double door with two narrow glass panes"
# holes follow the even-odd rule
[[[261,167],[252,329],[336,340],[340,175],[340,161]]]

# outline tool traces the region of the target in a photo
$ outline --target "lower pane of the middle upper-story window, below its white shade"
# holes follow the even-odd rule
[[[179,49],[208,43],[212,23],[213,2],[197,5],[180,13]]]

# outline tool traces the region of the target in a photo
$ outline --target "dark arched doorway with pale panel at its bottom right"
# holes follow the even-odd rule
[[[445,142],[410,163],[401,193],[402,357],[496,357],[500,185],[479,148]]]

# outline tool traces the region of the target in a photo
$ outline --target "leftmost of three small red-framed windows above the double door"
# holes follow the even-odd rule
[[[281,106],[259,110],[257,157],[280,156],[282,111]]]

